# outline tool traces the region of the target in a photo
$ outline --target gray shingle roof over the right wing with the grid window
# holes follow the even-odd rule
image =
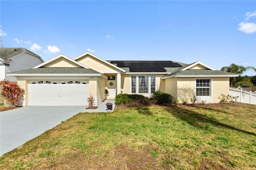
[[[180,71],[180,69],[174,73],[165,75],[164,77],[173,76],[173,75],[236,75],[234,73],[228,73],[225,71],[210,70],[210,69],[187,69]]]

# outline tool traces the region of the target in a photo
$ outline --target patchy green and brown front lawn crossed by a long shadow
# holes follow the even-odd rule
[[[79,113],[0,158],[1,169],[256,169],[256,105]]]

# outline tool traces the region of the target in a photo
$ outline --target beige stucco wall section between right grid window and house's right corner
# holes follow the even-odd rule
[[[220,94],[229,95],[229,77],[213,78],[213,103],[219,103]]]

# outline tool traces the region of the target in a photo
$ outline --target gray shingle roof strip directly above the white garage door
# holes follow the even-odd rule
[[[42,67],[15,71],[10,74],[100,74],[93,69],[82,67]]]

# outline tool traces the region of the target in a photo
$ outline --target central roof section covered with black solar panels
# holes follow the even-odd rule
[[[126,72],[167,72],[170,73],[186,65],[174,61],[141,61],[141,60],[111,60],[109,63],[124,69]],[[181,65],[182,64],[182,65]]]

